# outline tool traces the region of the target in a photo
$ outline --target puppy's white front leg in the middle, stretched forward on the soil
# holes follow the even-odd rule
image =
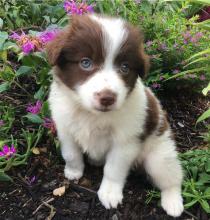
[[[111,149],[106,158],[104,176],[98,197],[105,208],[116,208],[123,199],[123,187],[129,169],[137,156],[135,144],[118,145]]]

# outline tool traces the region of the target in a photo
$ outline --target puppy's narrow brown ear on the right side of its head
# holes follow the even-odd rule
[[[144,45],[143,42],[140,44],[140,48],[139,48],[139,56],[141,59],[141,63],[142,63],[142,70],[139,73],[139,76],[141,78],[145,78],[147,73],[149,72],[149,68],[150,68],[150,59],[149,56],[145,53],[144,51]]]

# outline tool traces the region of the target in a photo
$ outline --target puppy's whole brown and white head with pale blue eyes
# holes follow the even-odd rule
[[[138,30],[116,18],[74,16],[47,52],[56,75],[93,112],[120,108],[148,67]]]

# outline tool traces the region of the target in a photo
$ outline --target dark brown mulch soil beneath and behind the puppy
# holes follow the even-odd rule
[[[201,95],[189,91],[159,93],[168,117],[179,151],[203,148],[204,131],[202,124],[195,127],[198,116],[209,106]],[[97,190],[102,180],[102,167],[94,167],[86,162],[84,177],[79,182],[69,182],[64,178],[64,162],[54,147],[46,140],[39,155],[29,158],[26,166],[12,169],[13,183],[0,183],[0,219],[7,220],[82,220],[82,219],[173,219],[161,209],[159,199],[146,202],[148,190],[153,186],[144,172],[132,171],[124,189],[123,204],[118,209],[106,210],[97,198]],[[35,181],[29,179],[35,176]],[[53,196],[53,190],[64,186],[62,196]],[[194,207],[186,210],[180,220],[210,219],[202,209]]]

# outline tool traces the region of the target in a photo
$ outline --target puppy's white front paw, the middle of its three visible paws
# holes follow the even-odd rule
[[[122,187],[111,181],[104,181],[98,191],[98,197],[106,209],[117,208],[122,203]]]

